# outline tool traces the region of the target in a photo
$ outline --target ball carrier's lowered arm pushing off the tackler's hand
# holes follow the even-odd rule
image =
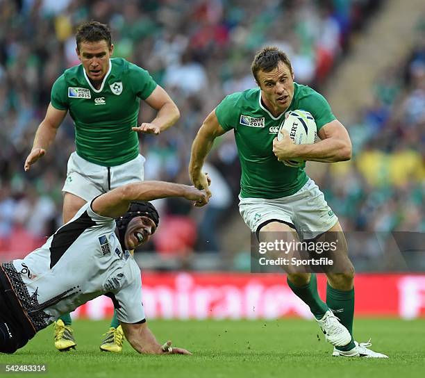
[[[208,197],[211,197],[211,192],[208,188],[210,181],[207,174],[202,172],[203,162],[210,152],[211,147],[213,147],[215,138],[224,133],[226,133],[226,130],[220,126],[214,109],[203,121],[192,143],[189,163],[190,180],[196,188],[206,190]]]

